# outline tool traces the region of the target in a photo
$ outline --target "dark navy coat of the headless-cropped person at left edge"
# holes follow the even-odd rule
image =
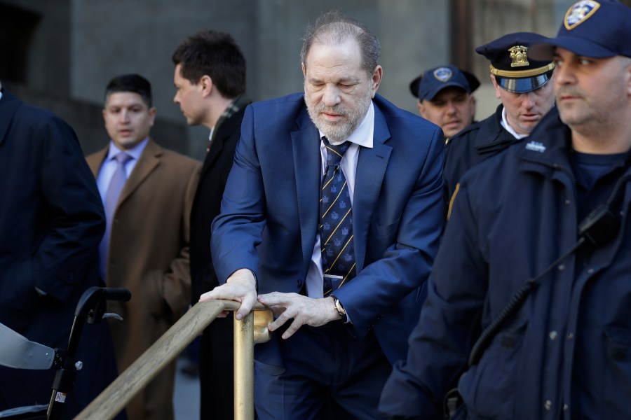
[[[79,297],[97,286],[103,207],[72,128],[7,90],[0,99],[0,197],[0,323],[65,349]],[[105,323],[86,326],[78,356],[84,367],[64,418],[116,377]],[[53,376],[0,367],[0,410],[45,404]]]

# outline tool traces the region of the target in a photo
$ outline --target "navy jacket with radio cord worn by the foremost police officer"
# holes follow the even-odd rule
[[[457,385],[462,418],[630,418],[628,163],[615,238],[580,254],[589,258],[572,253],[555,265],[479,363],[467,362],[480,331],[522,283],[578,240],[569,150],[569,129],[552,109],[528,139],[463,176],[407,361],[395,365],[382,411],[440,419]]]

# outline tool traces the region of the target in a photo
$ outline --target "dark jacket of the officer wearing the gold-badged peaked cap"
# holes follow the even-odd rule
[[[445,179],[445,204],[449,204],[456,184],[467,169],[520,141],[502,127],[503,109],[502,104],[498,105],[493,115],[464,128],[447,142],[445,169],[442,173]]]

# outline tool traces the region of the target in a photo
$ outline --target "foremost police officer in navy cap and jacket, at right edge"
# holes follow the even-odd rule
[[[557,106],[463,175],[388,418],[631,418],[630,39],[629,6],[581,0],[529,49]]]

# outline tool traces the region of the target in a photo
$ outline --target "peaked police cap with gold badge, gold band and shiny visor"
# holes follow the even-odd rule
[[[542,87],[552,77],[555,64],[552,59],[538,61],[529,59],[531,45],[548,38],[532,32],[507,34],[485,45],[475,48],[491,62],[491,74],[504,90],[525,93]]]

